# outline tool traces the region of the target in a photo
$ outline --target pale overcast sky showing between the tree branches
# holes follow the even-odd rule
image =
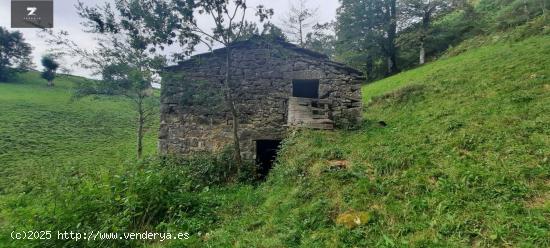
[[[92,49],[95,46],[93,36],[82,31],[81,19],[76,13],[75,4],[77,0],[53,0],[54,1],[54,28],[55,32],[64,30],[68,31],[70,37],[82,48]],[[82,0],[87,5],[101,4],[106,0]],[[281,26],[281,20],[288,12],[291,5],[291,0],[248,0],[248,6],[264,5],[267,8],[274,10],[272,22]],[[309,0],[306,5],[310,9],[317,9],[317,22],[324,23],[332,21],[336,18],[336,9],[339,6],[338,0]],[[37,29],[28,28],[11,28],[11,0],[0,0],[0,26],[8,28],[8,30],[18,30],[23,33],[26,41],[33,47],[33,61],[36,69],[42,69],[40,58],[47,53],[48,45],[38,36]],[[248,17],[250,20],[257,19],[253,15]],[[209,17],[199,17],[199,23],[208,27],[211,24]],[[260,25],[261,26],[261,25]],[[207,52],[205,46],[198,47],[195,53]],[[76,58],[65,58],[66,64],[73,64]],[[89,77],[90,72],[78,67],[69,67],[71,74]]]

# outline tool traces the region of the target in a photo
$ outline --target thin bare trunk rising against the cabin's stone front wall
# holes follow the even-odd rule
[[[235,102],[233,100],[233,96],[231,95],[231,86],[229,84],[231,76],[231,49],[229,48],[229,44],[226,44],[226,65],[225,65],[225,96],[227,99],[227,103],[229,104],[229,109],[231,111],[231,116],[233,117],[233,143],[235,148],[235,162],[237,163],[237,175],[241,171],[241,165],[242,165],[242,158],[241,158],[241,145],[240,145],[240,139],[239,139],[239,116],[237,114],[237,109],[235,108]]]

